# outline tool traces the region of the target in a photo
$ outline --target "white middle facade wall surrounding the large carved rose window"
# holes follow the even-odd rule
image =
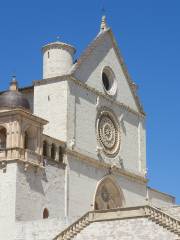
[[[122,110],[116,104],[104,98],[99,98],[86,89],[69,83],[68,94],[68,142],[75,139],[74,149],[83,154],[99,160],[97,156],[96,120],[101,107],[108,107],[117,116],[120,125],[121,143],[120,151],[115,158],[108,158],[102,154],[104,161],[120,165],[136,174],[144,174],[146,170],[146,134],[142,119],[130,112]],[[121,121],[123,115],[123,121]],[[140,127],[139,124],[141,123]]]

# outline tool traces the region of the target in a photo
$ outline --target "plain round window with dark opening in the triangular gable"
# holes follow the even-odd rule
[[[105,67],[102,72],[102,83],[104,90],[109,95],[115,95],[117,91],[117,82],[115,75],[110,67]]]

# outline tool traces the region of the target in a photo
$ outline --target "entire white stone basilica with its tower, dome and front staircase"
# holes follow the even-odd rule
[[[105,17],[75,51],[45,45],[42,79],[0,94],[0,239],[177,239],[180,210],[148,186],[146,114]]]

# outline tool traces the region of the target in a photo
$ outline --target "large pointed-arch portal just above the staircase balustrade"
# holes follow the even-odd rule
[[[96,190],[94,209],[113,209],[123,206],[124,196],[121,189],[112,177],[103,178]]]

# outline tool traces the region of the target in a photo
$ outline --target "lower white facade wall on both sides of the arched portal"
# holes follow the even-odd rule
[[[80,217],[94,205],[95,192],[99,181],[108,174],[107,169],[93,167],[85,162],[68,157],[69,173],[69,216]],[[146,204],[146,185],[113,175],[124,195],[124,206]]]

